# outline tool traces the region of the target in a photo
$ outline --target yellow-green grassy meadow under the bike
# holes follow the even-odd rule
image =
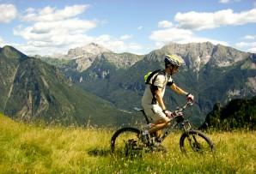
[[[0,116],[0,173],[255,173],[255,131],[213,132],[214,155],[180,153],[180,134],[168,153],[125,158],[110,153],[111,129],[46,127]]]

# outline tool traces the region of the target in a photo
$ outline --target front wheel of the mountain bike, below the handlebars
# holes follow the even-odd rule
[[[211,153],[214,151],[213,142],[202,132],[194,129],[188,130],[180,137],[180,150],[182,153]]]

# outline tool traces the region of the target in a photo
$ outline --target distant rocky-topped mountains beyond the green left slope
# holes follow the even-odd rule
[[[205,116],[216,102],[225,104],[231,99],[256,94],[256,55],[229,46],[212,45],[210,42],[186,45],[170,43],[142,56],[113,53],[96,44],[87,46],[95,47],[91,49],[96,50],[91,53],[93,56],[76,58],[81,50],[86,52],[86,49],[76,48],[72,50],[78,50],[72,53],[76,57],[70,57],[69,51],[64,58],[41,58],[57,66],[70,81],[85,91],[123,110],[131,111],[134,106],[140,105],[144,89],[143,75],[154,69],[163,69],[165,54],[178,54],[186,62],[173,79],[178,86],[195,95],[197,105],[191,117],[195,124],[204,123]],[[82,55],[88,54],[83,52]],[[166,93],[165,101],[170,110],[186,102],[183,96],[170,90]]]

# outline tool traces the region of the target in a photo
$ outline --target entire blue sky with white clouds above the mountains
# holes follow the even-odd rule
[[[256,0],[0,0],[0,46],[66,54],[97,43],[147,54],[210,41],[256,52]]]

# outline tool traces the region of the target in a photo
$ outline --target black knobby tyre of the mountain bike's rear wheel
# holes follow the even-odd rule
[[[131,134],[134,134],[135,137],[138,137],[139,134],[141,133],[141,131],[139,129],[136,129],[136,128],[132,128],[132,127],[125,127],[125,128],[122,128],[122,129],[118,129],[112,136],[111,138],[111,152],[112,153],[115,153],[117,151],[117,140],[118,138],[121,136],[121,135],[124,135],[126,133],[131,133]],[[131,139],[130,139],[131,140]],[[127,140],[129,141],[129,139]],[[138,138],[137,140],[138,141]],[[126,141],[125,141],[126,143]],[[118,149],[119,150],[119,149]],[[122,149],[123,150],[123,149]]]

